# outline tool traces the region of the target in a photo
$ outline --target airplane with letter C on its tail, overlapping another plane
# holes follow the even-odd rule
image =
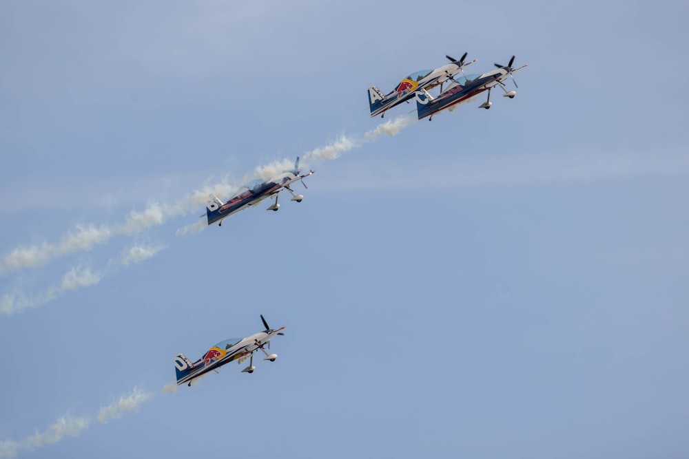
[[[507,77],[512,78],[512,81],[517,87],[517,82],[512,76],[515,72],[519,72],[528,64],[522,65],[522,67],[514,68],[512,64],[514,63],[515,56],[512,56],[510,62],[507,65],[495,64],[497,69],[491,70],[484,74],[476,75],[466,75],[457,80],[453,79],[453,83],[447,87],[445,92],[433,98],[425,89],[417,91],[416,94],[416,111],[418,118],[426,118],[430,116],[429,120],[433,119],[433,115],[438,113],[438,111],[453,107],[458,103],[462,103],[465,100],[469,100],[473,96],[480,94],[484,91],[488,91],[488,100],[479,105],[479,108],[489,109],[493,103],[491,102],[491,89],[495,86],[500,86],[500,88],[505,92],[504,97],[514,98],[517,95],[516,91],[508,91],[504,83],[502,83]],[[452,108],[451,110],[452,111]]]

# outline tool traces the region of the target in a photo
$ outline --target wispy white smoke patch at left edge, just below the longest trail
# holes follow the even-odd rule
[[[27,308],[36,308],[48,301],[56,299],[64,292],[76,290],[98,284],[102,275],[94,273],[90,268],[83,268],[81,266],[74,266],[62,277],[62,281],[57,287],[50,287],[45,293],[31,297],[20,292],[12,292],[3,294],[0,299],[0,312],[4,314],[16,314]]]

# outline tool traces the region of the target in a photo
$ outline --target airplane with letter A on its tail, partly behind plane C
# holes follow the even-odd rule
[[[413,74],[407,76],[400,81],[396,89],[389,92],[387,96],[376,86],[369,87],[369,107],[371,109],[371,118],[380,115],[380,118],[384,118],[385,111],[399,105],[402,102],[407,102],[407,100],[413,98],[415,91],[417,89],[431,89],[440,85],[440,91],[442,92],[442,84],[451,79],[456,74],[463,72],[464,67],[471,65],[476,62],[474,59],[471,62],[464,63],[466,59],[466,52],[462,58],[457,61],[457,59],[452,56],[445,56],[450,60],[450,64],[443,65],[437,69],[420,70],[414,72]]]

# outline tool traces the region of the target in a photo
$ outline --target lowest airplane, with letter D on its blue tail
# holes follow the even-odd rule
[[[177,385],[187,384],[191,387],[192,381],[203,378],[203,376],[207,376],[210,372],[217,373],[218,368],[232,361],[242,363],[250,359],[249,366],[242,370],[242,372],[253,373],[256,370],[254,366],[254,352],[259,349],[265,354],[265,359],[263,360],[274,362],[278,358],[278,354],[268,354],[264,347],[268,345],[268,349],[270,349],[270,339],[276,336],[276,334],[284,334],[282,330],[285,330],[285,327],[273,330],[268,326],[268,323],[263,318],[263,314],[260,315],[260,319],[265,326],[263,332],[254,333],[246,338],[230,338],[220,341],[220,343],[212,346],[194,363],[190,362],[184,354],[174,356]]]

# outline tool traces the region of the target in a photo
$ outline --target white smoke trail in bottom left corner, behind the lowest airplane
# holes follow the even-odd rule
[[[102,424],[107,424],[107,421],[121,418],[125,412],[133,411],[138,408],[141,403],[151,398],[153,394],[141,392],[140,389],[134,387],[134,390],[127,395],[121,396],[119,401],[116,401],[105,407],[99,409],[96,419]],[[30,451],[31,449],[40,448],[45,445],[53,445],[65,437],[77,437],[81,432],[88,429],[92,424],[92,418],[89,416],[82,416],[80,418],[72,418],[69,414],[58,418],[48,429],[43,432],[25,438],[19,442],[16,440],[0,440],[0,459],[12,459],[17,456],[19,451]]]

